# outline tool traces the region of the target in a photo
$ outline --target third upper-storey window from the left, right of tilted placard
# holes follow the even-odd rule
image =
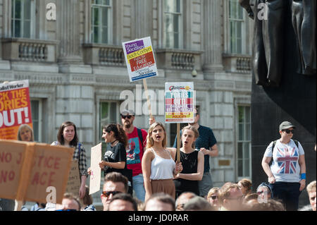
[[[164,46],[169,49],[182,47],[182,1],[164,0]]]

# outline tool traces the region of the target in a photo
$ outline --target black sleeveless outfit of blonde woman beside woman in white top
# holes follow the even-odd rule
[[[176,162],[177,159],[175,159]],[[198,151],[186,154],[180,151],[180,162],[182,162],[181,174],[196,174],[198,166]],[[174,180],[176,195],[190,191],[199,195],[198,181],[189,181],[182,178]],[[178,197],[177,196],[177,197]]]

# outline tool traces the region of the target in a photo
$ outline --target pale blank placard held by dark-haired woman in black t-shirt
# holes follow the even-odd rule
[[[99,162],[101,162],[101,143],[92,147],[91,150],[90,168],[92,169],[92,174],[90,174],[89,195],[100,190],[101,168]]]

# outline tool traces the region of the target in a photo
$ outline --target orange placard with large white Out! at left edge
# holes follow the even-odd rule
[[[0,139],[16,140],[24,123],[32,128],[29,81],[0,84]]]

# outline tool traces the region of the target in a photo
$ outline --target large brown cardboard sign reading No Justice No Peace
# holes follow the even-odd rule
[[[61,203],[74,150],[35,142],[0,140],[0,197],[44,202],[47,188]]]

